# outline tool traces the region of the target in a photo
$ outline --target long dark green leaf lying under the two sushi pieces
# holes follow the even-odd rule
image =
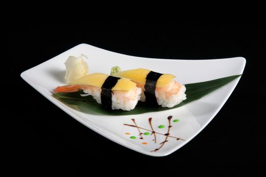
[[[174,106],[173,108],[163,108],[161,106],[150,106],[145,102],[139,102],[135,109],[131,111],[123,110],[106,110],[100,104],[98,104],[91,96],[82,97],[81,94],[84,94],[83,91],[76,93],[56,93],[53,94],[53,97],[61,101],[65,105],[79,110],[84,113],[90,114],[105,114],[105,115],[134,115],[142,114],[146,112],[157,112],[164,111],[169,109],[174,109],[180,106],[183,106],[187,103],[198,100],[211,92],[219,89],[220,87],[226,85],[232,80],[238,78],[241,75],[233,75],[229,77],[218,78],[214,80],[198,82],[198,83],[189,83],[185,84],[186,87],[186,100],[181,102],[179,105]]]

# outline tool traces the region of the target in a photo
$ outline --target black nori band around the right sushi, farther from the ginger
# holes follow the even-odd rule
[[[144,95],[146,97],[146,102],[150,105],[157,105],[155,89],[157,80],[161,75],[163,74],[150,71],[146,76],[146,83],[144,85]]]

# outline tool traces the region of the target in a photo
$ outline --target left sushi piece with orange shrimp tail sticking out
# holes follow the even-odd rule
[[[80,77],[70,84],[58,86],[54,92],[72,93],[83,90],[86,94],[83,96],[90,95],[97,103],[112,110],[132,110],[140,100],[141,89],[136,87],[136,83],[126,78],[94,73]]]

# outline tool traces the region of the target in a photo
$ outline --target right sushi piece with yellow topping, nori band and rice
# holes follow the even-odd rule
[[[185,86],[173,80],[172,74],[161,74],[148,69],[132,69],[114,76],[127,78],[140,87],[140,101],[172,108],[186,99]]]

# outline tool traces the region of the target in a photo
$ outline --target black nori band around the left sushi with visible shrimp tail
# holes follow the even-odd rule
[[[104,81],[104,83],[102,84],[101,104],[103,107],[107,109],[111,109],[112,107],[111,89],[117,84],[119,79],[120,79],[119,77],[108,76]]]

